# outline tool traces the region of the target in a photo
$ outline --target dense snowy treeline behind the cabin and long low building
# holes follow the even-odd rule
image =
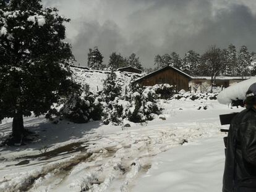
[[[176,52],[155,56],[156,68],[171,65],[191,76],[250,76],[256,74],[256,53],[249,52],[246,46],[237,51],[236,46],[220,49],[210,46],[202,56],[190,50],[181,59]]]

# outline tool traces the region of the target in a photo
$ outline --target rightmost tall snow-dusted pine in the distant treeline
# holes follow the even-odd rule
[[[250,75],[250,52],[248,51],[246,46],[241,46],[239,50],[238,56],[238,64],[239,64],[239,75],[241,77]]]

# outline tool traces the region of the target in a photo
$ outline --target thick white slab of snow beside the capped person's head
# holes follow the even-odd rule
[[[231,85],[225,88],[218,94],[217,99],[221,104],[229,104],[232,100],[245,99],[245,94],[249,89],[249,86],[256,83],[256,77],[252,77],[249,80],[241,81],[235,85]]]

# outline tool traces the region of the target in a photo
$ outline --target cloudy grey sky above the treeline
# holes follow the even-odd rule
[[[211,44],[245,44],[256,51],[255,0],[43,0],[71,19],[67,41],[82,65],[98,46],[108,64],[111,52],[135,52],[143,67],[156,54],[189,49],[202,53]]]

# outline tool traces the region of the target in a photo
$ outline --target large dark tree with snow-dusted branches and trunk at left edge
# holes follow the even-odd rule
[[[72,59],[58,10],[40,0],[0,1],[0,119],[13,117],[12,135],[25,135],[23,115],[45,114],[72,82],[64,68]],[[61,64],[62,63],[62,64]]]

